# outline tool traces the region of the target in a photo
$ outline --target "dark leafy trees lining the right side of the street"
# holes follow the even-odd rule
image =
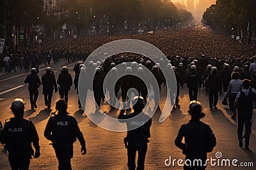
[[[218,0],[207,8],[203,20],[212,29],[225,31],[228,35],[240,35],[251,41],[256,31],[255,8],[256,1],[252,0]]]

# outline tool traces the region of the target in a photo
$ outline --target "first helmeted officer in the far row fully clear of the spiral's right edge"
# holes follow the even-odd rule
[[[202,87],[202,78],[200,74],[196,71],[196,66],[190,66],[190,72],[186,74],[186,83],[189,90],[190,101],[196,101],[198,87]]]

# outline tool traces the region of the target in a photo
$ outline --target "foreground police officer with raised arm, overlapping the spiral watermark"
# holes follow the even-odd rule
[[[120,122],[125,122],[127,124],[127,129],[132,131],[127,131],[127,137],[124,139],[125,148],[127,148],[128,153],[128,167],[130,170],[135,170],[135,157],[136,152],[138,151],[138,166],[137,169],[144,169],[144,162],[147,153],[147,143],[148,138],[150,138],[150,126],[152,124],[152,120],[148,115],[143,113],[143,108],[145,107],[143,97],[134,97],[133,110],[134,113],[124,115],[125,110],[120,112],[118,119]],[[142,113],[141,113],[142,112]],[[140,118],[135,118],[135,120],[131,120],[131,118],[136,117],[140,114]],[[132,124],[131,121],[139,122],[139,124]],[[141,125],[140,122],[143,122]]]

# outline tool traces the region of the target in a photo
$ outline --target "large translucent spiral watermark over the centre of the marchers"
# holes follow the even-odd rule
[[[143,124],[134,124],[134,125],[125,125],[118,121],[118,119],[110,117],[107,114],[103,114],[102,111],[100,111],[100,114],[92,113],[92,111],[88,110],[88,107],[86,107],[86,99],[88,96],[90,96],[88,93],[92,94],[93,99],[95,99],[95,96],[92,92],[93,87],[93,78],[95,78],[95,74],[97,72],[97,67],[93,67],[92,63],[95,63],[97,61],[100,61],[101,63],[104,62],[109,57],[115,56],[120,53],[134,53],[143,55],[147,57],[148,59],[152,60],[155,63],[159,63],[159,69],[162,71],[164,79],[166,81],[166,86],[168,88],[167,94],[165,96],[166,103],[164,103],[164,108],[161,113],[161,116],[159,117],[159,122],[163,122],[168,115],[170,115],[170,111],[172,111],[173,105],[175,103],[175,97],[176,97],[176,90],[177,90],[177,83],[174,71],[172,67],[166,67],[168,64],[168,59],[164,55],[159,48],[156,46],[147,43],[145,41],[141,41],[138,39],[120,39],[116,41],[112,41],[110,43],[106,43],[105,45],[100,46],[97,48],[94,52],[90,54],[90,56],[84,61],[84,65],[86,65],[86,69],[81,69],[81,73],[79,75],[79,85],[78,85],[78,91],[79,91],[79,99],[81,102],[81,106],[83,110],[85,111],[86,115],[92,122],[99,127],[102,127],[103,129],[106,129],[108,131],[116,131],[116,132],[125,132],[125,131],[131,131],[132,129],[136,129],[140,127]],[[133,75],[140,78],[140,80],[143,80],[145,85],[147,85],[147,92],[148,97],[150,92],[152,90],[154,91],[154,100],[153,101],[147,101],[146,106],[144,110],[139,114],[136,115],[136,117],[132,117],[129,119],[130,122],[147,122],[150,117],[154,115],[154,113],[157,110],[157,107],[154,107],[153,110],[150,108],[150,105],[158,106],[159,99],[160,99],[160,93],[158,88],[157,80],[152,74],[150,70],[147,69],[145,66],[140,66],[143,68],[144,74],[137,74],[133,73],[132,71],[125,71],[120,74],[121,70],[124,69],[124,66],[132,65],[132,63],[127,62],[127,64],[118,64],[116,69],[118,70],[118,76],[114,78],[113,74],[111,74],[111,71],[106,75],[106,78],[104,79],[103,83],[103,91],[106,96],[106,100],[108,103],[117,108],[117,109],[129,109],[131,108],[129,101],[120,102],[118,99],[116,99],[115,95],[111,99],[109,99],[108,92],[106,89],[109,90],[109,93],[113,93],[115,91],[115,83],[120,78],[126,75]],[[95,66],[95,64],[94,64]],[[144,75],[144,76],[143,76]],[[145,76],[146,75],[146,76]],[[109,81],[111,80],[111,81]],[[134,83],[134,82],[130,82]],[[134,89],[129,89],[127,91],[127,94],[131,96],[131,94],[138,95],[138,92]],[[114,99],[113,99],[114,98]],[[130,97],[131,99],[131,97]],[[153,103],[153,104],[152,104]],[[99,106],[96,104],[96,108],[99,110]],[[145,114],[148,115],[145,117]]]

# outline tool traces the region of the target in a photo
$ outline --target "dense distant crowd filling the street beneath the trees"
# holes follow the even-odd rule
[[[85,60],[99,46],[117,39],[141,39],[157,46],[171,59],[177,55],[191,58],[204,54],[212,59],[244,60],[255,54],[255,46],[239,43],[223,35],[214,34],[204,27],[187,28],[181,31],[170,29],[157,31],[154,34],[138,34],[134,36],[90,36],[79,39],[54,39],[33,45],[17,45],[14,50],[4,51],[0,55],[0,71],[9,73],[19,69],[38,67],[49,60],[54,62],[67,59],[68,62]],[[6,59],[4,59],[7,57]]]

